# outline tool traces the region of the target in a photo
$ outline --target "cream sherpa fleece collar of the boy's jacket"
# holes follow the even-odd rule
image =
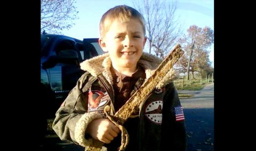
[[[146,72],[146,79],[148,79],[162,61],[163,59],[161,58],[143,52],[138,61],[138,65],[144,68]],[[108,53],[85,60],[80,64],[80,66],[82,70],[88,71],[92,76],[96,77],[102,74],[108,80],[108,82],[113,85],[113,77],[110,72],[111,59]],[[156,88],[161,88],[167,85],[171,81],[175,80],[178,76],[179,73],[172,68],[159,82],[159,84],[157,84]]]

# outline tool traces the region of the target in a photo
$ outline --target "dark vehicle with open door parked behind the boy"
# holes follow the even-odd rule
[[[80,63],[103,53],[98,38],[82,41],[63,35],[41,35],[40,103],[45,119],[55,117],[56,111],[84,73]]]

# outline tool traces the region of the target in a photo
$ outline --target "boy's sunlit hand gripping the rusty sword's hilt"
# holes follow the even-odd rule
[[[109,144],[120,130],[109,119],[96,119],[89,123],[86,132],[88,132],[92,138]]]

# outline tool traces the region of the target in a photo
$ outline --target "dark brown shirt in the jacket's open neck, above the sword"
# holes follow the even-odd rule
[[[140,66],[138,66],[137,71],[131,76],[119,73],[112,66],[110,71],[113,76],[113,88],[115,92],[114,107],[115,111],[118,111],[119,108],[122,107],[130,96],[137,90],[137,87],[140,87],[146,78],[146,74],[144,69]]]

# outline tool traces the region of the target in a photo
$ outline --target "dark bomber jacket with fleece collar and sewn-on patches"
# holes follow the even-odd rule
[[[137,64],[145,70],[147,79],[161,62],[162,59],[143,53]],[[95,143],[93,138],[85,135],[87,125],[94,119],[104,117],[103,109],[106,105],[111,107],[111,115],[115,114],[113,107],[115,93],[112,86],[109,54],[85,60],[80,65],[86,72],[56,112],[53,130],[61,140],[86,148]],[[177,78],[177,72],[171,69],[146,97],[146,101],[137,105],[130,117],[138,118],[138,129],[135,130],[137,140],[132,141],[136,142],[132,144],[133,151],[186,149],[185,120],[179,96],[173,84],[175,78]],[[138,89],[144,81],[139,79],[135,89]],[[112,151],[109,145],[105,146]],[[102,150],[106,150],[106,147],[102,147]]]

